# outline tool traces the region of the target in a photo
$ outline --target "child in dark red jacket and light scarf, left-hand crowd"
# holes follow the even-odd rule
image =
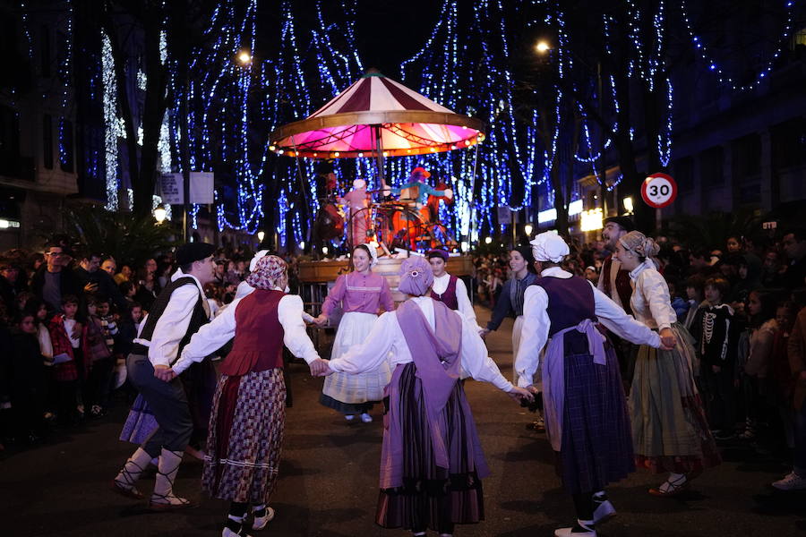
[[[56,409],[59,422],[69,424],[83,417],[79,405],[80,382],[84,379],[81,354],[82,323],[76,318],[78,298],[73,294],[62,297],[62,311],[50,320],[48,330],[53,343],[53,376],[56,385]]]

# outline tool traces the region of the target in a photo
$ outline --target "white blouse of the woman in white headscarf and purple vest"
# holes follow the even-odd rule
[[[560,267],[546,268],[541,276],[569,278],[572,275]],[[588,282],[590,284],[590,282]],[[647,325],[639,323],[622,310],[606,294],[593,284],[596,317],[608,330],[638,345],[659,347],[660,337]],[[528,286],[523,297],[523,332],[520,337],[518,356],[515,357],[515,371],[518,385],[526,388],[532,384],[540,366],[540,351],[548,340],[552,326],[548,317],[548,294],[541,286]]]

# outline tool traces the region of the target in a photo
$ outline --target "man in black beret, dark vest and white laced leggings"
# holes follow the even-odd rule
[[[149,404],[158,429],[138,447],[112,482],[113,490],[134,499],[142,494],[134,485],[150,460],[159,456],[158,472],[149,507],[174,510],[192,503],[174,494],[174,480],[184,448],[193,434],[193,420],[187,396],[171,364],[202,325],[210,322],[210,305],[203,287],[213,279],[212,255],[208,243],[187,243],[176,251],[179,270],[154,301],[126,359],[128,378]]]

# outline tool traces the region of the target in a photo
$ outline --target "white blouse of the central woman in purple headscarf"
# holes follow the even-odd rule
[[[423,311],[425,319],[431,328],[434,327],[433,299],[429,296],[416,296],[409,300]],[[462,320],[462,346],[461,356],[461,376],[473,377],[476,380],[484,380],[493,384],[495,388],[505,392],[512,391],[515,387],[505,379],[495,365],[493,359],[487,355],[487,348],[484,341],[479,337],[476,327],[465,319],[465,317],[454,311]],[[388,361],[390,368],[394,369],[399,363],[414,362],[411,352],[408,350],[406,337],[400,328],[398,316],[394,311],[386,311],[375,320],[373,329],[361,345],[353,345],[338,358],[330,360],[330,369],[333,371],[347,373],[361,373],[372,371],[380,366],[383,361]]]

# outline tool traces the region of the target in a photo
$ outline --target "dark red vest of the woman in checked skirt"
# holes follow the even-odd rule
[[[246,373],[283,367],[283,336],[277,309],[282,291],[255,289],[236,306],[236,335],[221,374]]]

